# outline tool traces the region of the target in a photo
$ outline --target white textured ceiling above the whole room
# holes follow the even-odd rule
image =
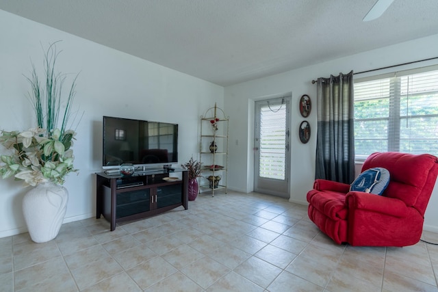
[[[218,85],[438,33],[437,0],[0,0],[0,9]],[[4,28],[3,28],[4,29]]]

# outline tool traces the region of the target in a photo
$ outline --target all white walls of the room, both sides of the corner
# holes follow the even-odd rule
[[[59,70],[81,72],[75,105],[85,114],[73,148],[75,167],[80,172],[78,176],[71,174],[65,184],[70,196],[64,222],[95,215],[94,172],[101,170],[102,116],[177,122],[181,163],[192,155],[197,157],[198,118],[217,102],[230,117],[229,188],[249,192],[253,190],[253,102],[286,92],[292,92],[293,107],[290,200],[307,204],[305,196],[315,171],[316,137],[316,90],[310,81],[339,72],[359,72],[438,55],[436,35],[223,89],[2,10],[0,27],[0,129],[12,131],[34,126],[33,111],[25,97],[29,85],[23,74],[28,75],[31,69],[30,59],[41,68],[41,46],[47,48],[49,43],[63,40],[58,44],[63,51],[58,59]],[[309,94],[313,102],[307,118],[312,130],[307,144],[298,139],[298,125],[304,120],[298,111],[302,94]],[[20,182],[0,180],[0,237],[26,231],[21,211],[25,191]],[[426,211],[425,228],[438,232],[437,187]]]

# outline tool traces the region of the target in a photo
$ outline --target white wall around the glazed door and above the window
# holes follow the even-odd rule
[[[290,201],[307,204],[306,194],[313,185],[315,175],[316,147],[316,85],[312,79],[348,73],[361,72],[405,62],[438,57],[438,35],[396,44],[374,51],[342,57],[330,62],[307,66],[279,75],[248,81],[225,88],[225,111],[230,118],[229,146],[229,188],[239,191],[253,191],[253,101],[264,96],[274,96],[292,92],[292,159],[290,177]],[[401,66],[396,70],[438,64],[438,60]],[[394,69],[392,69],[394,70]],[[355,75],[355,78],[391,72],[381,70]],[[302,120],[298,101],[302,94],[308,94],[312,101],[312,111],[306,120],[311,124],[311,138],[307,144],[298,139],[298,126]],[[236,145],[235,141],[238,140]],[[425,216],[425,228],[438,232],[438,187],[435,187]]]

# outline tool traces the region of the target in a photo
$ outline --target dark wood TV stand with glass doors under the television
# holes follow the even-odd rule
[[[173,174],[173,175],[172,175]],[[181,180],[163,178],[180,176]],[[157,215],[179,206],[188,209],[188,171],[153,170],[133,176],[96,173],[96,218],[111,224]]]

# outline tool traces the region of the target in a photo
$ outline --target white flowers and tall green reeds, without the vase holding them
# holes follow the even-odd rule
[[[38,126],[27,131],[0,130],[0,175],[2,178],[14,176],[25,181],[25,186],[35,186],[50,181],[62,185],[73,168],[73,140],[75,131],[67,130],[70,109],[75,96],[76,78],[66,96],[62,85],[66,75],[55,72],[55,61],[59,53],[56,42],[50,45],[44,56],[44,81],[41,83],[34,64],[31,77],[29,100],[31,101]],[[64,112],[60,113],[61,105]],[[62,118],[58,127],[58,117]]]

